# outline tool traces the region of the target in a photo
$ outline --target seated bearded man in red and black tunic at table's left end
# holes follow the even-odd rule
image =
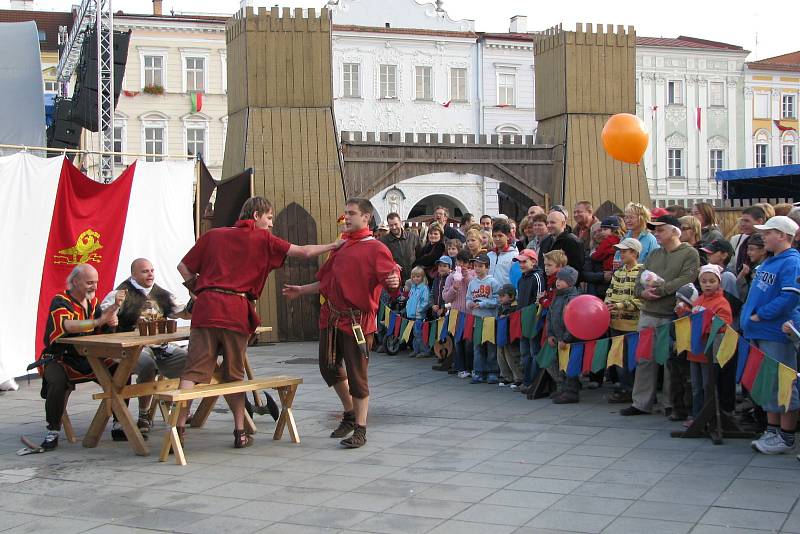
[[[75,266],[67,277],[67,290],[57,294],[50,302],[44,332],[45,348],[42,357],[29,367],[41,367],[41,395],[45,399],[48,430],[41,446],[47,451],[58,447],[58,433],[68,392],[75,384],[96,381],[89,361],[80,357],[71,345],[59,343],[59,338],[100,333],[102,327],[117,324],[117,310],[124,294],[120,294],[101,313],[96,292],[97,270],[86,263]],[[107,361],[107,365],[113,368],[115,364]],[[124,436],[116,420],[111,431]]]

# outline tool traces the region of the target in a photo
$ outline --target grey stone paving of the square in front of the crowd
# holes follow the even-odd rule
[[[137,457],[108,432],[96,449],[63,440],[18,457],[20,435],[38,442],[44,432],[39,382],[0,397],[0,531],[800,533],[794,455],[672,439],[676,423],[622,418],[608,390],[556,406],[431,371],[429,359],[374,355],[369,442],[341,450],[328,438],[335,395],[308,360],[316,344],[250,354],[257,375],[305,379],[300,445],[273,442],[271,419],[258,416],[256,444],[233,449],[221,403],[188,433],[186,467]],[[79,435],[95,391],[82,385],[70,399]]]

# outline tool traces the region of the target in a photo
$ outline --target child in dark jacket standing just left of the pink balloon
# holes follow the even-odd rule
[[[547,342],[551,347],[557,346],[558,349],[563,349],[567,343],[577,341],[564,324],[564,310],[567,304],[578,296],[578,289],[575,287],[577,283],[578,271],[569,265],[560,268],[556,273],[556,294],[547,314]],[[547,368],[547,372],[561,385],[560,391],[556,391],[551,397],[555,404],[572,404],[580,400],[578,377],[567,378],[566,374],[559,370],[558,358]]]

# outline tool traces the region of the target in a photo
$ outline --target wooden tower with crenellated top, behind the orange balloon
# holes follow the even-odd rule
[[[537,143],[561,145],[554,203],[590,200],[595,211],[622,211],[629,201],[650,205],[644,171],[612,159],[600,133],[611,115],[635,113],[636,33],[578,24],[540,34],[535,43]],[[558,179],[560,175],[562,179]]]

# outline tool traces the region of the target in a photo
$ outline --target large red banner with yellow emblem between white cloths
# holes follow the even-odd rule
[[[37,358],[44,348],[50,301],[64,291],[67,276],[76,265],[88,263],[97,269],[98,299],[114,287],[135,168],[134,163],[112,183],[103,184],[87,178],[64,159],[39,291]]]

